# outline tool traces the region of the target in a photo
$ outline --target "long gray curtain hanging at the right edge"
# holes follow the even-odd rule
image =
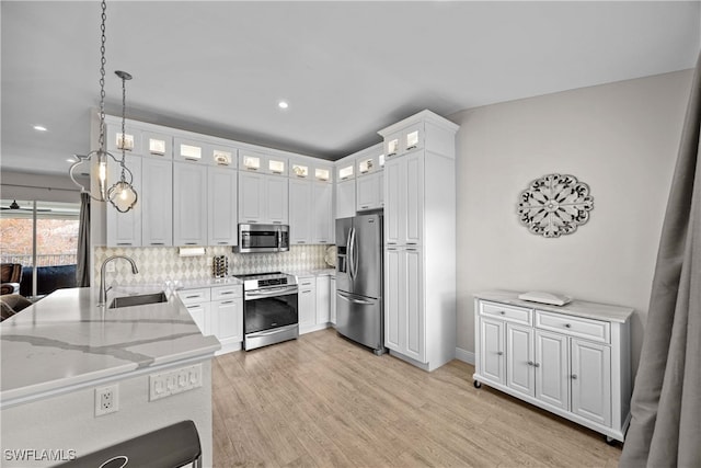
[[[621,467],[701,467],[701,56],[667,203]]]

